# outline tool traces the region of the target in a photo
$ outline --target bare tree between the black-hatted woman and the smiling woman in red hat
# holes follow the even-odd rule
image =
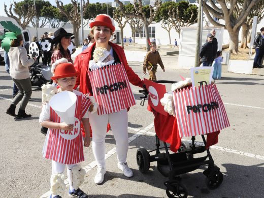
[[[89,5],[89,0],[85,3],[84,0],[81,0],[83,4],[83,16],[86,12],[86,9]],[[74,42],[76,46],[79,46],[79,28],[81,27],[81,14],[79,10],[79,5],[76,0],[71,0],[72,4],[63,6],[61,1],[56,0],[57,8],[59,12],[68,18],[68,20],[73,24],[74,31]],[[66,8],[68,6],[68,8]]]

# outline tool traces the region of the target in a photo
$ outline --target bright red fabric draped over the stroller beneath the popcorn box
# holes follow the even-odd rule
[[[172,115],[164,116],[150,106],[148,106],[148,110],[154,114],[155,132],[159,140],[171,144],[171,151],[176,153],[181,146],[176,117]],[[218,142],[219,133],[220,131],[215,131],[214,133],[207,134],[206,149]]]

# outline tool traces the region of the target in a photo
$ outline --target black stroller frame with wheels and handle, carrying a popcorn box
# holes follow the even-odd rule
[[[176,83],[175,81],[165,81],[160,80],[156,81],[156,83]],[[144,105],[144,100],[148,96],[148,92],[146,90],[140,90],[140,93],[143,93],[144,96],[143,101],[141,105]],[[154,109],[151,109],[153,112],[155,118],[156,116],[163,116],[160,115],[158,112],[156,112]],[[171,131],[173,130],[173,125],[175,118],[171,115],[168,117],[163,116],[163,120],[161,121],[159,119],[159,123],[162,123],[163,125],[170,125]],[[164,120],[167,120],[168,122],[163,122]],[[176,121],[177,123],[177,121]],[[154,120],[154,124],[155,120]],[[169,127],[170,127],[169,126]],[[182,184],[181,178],[179,177],[180,174],[188,173],[191,171],[194,171],[196,169],[199,169],[199,167],[203,164],[208,164],[208,169],[205,170],[203,173],[206,176],[206,185],[210,189],[216,189],[220,186],[220,184],[223,181],[223,174],[220,172],[220,169],[214,164],[214,160],[210,154],[210,151],[208,147],[206,147],[207,141],[202,135],[202,139],[204,142],[204,146],[197,146],[195,145],[195,136],[191,137],[191,143],[188,141],[181,141],[180,147],[178,149],[178,152],[176,153],[170,153],[169,152],[169,146],[166,142],[163,142],[164,147],[160,147],[160,140],[157,136],[159,133],[166,133],[165,131],[156,131],[155,126],[155,132],[156,132],[156,149],[152,151],[147,151],[145,148],[139,148],[137,150],[137,163],[138,167],[141,173],[147,173],[150,168],[150,162],[157,161],[157,169],[158,171],[165,177],[168,177],[169,179],[164,182],[164,185],[167,187],[166,193],[168,197],[187,197],[188,192],[186,187]],[[159,132],[159,133],[158,133]],[[217,132],[215,132],[217,133]],[[217,134],[218,135],[218,134]],[[207,137],[208,138],[208,137]],[[164,149],[165,152],[161,152],[160,149]],[[150,153],[154,152],[155,154],[150,155]],[[197,153],[203,153],[206,151],[206,156],[203,157],[194,157],[194,154]],[[208,158],[208,159],[207,159]]]

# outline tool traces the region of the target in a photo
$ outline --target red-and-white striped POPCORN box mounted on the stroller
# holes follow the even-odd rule
[[[174,91],[180,137],[213,133],[230,126],[215,84]]]

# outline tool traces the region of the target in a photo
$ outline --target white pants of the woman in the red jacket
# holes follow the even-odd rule
[[[128,151],[127,109],[105,115],[89,113],[89,121],[92,128],[92,150],[98,168],[106,167],[105,139],[108,123],[111,125],[116,141],[117,160],[125,162]]]

